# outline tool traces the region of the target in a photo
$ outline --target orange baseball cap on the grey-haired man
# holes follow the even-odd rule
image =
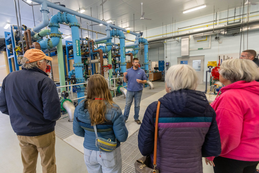
[[[35,61],[39,61],[42,59],[47,59],[52,61],[53,59],[51,57],[48,57],[45,53],[43,53],[39,49],[29,49],[24,53],[24,57],[28,58],[29,61],[26,61],[26,64],[32,63]]]

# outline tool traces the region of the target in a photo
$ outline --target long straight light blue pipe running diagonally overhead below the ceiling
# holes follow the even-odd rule
[[[105,21],[102,21],[102,20],[99,20],[99,19],[96,19],[96,18],[93,18],[91,16],[87,16],[87,15],[84,15],[82,13],[79,13],[77,11],[74,11],[74,10],[71,10],[71,9],[68,9],[66,7],[63,7],[63,6],[60,6],[60,5],[57,5],[57,4],[54,4],[52,2],[49,2],[47,0],[32,0],[33,2],[36,2],[38,4],[42,4],[44,2],[47,3],[47,6],[50,7],[50,8],[54,8],[54,9],[57,9],[57,10],[60,10],[60,11],[66,11],[68,13],[70,13],[71,15],[76,15],[78,17],[81,17],[81,18],[84,18],[84,19],[87,19],[87,20],[91,20],[93,22],[96,22],[96,23],[99,23],[99,24],[103,24],[105,26],[108,26],[110,25],[110,23],[107,23]],[[130,34],[133,34],[135,36],[138,36],[140,37],[140,34],[139,33],[135,33],[135,32],[132,32],[130,30],[126,30],[124,28],[121,28],[119,26],[116,26],[116,25],[112,25],[113,28],[117,29],[117,30],[121,30],[121,31],[124,31],[124,32],[127,32],[127,33],[130,33]]]

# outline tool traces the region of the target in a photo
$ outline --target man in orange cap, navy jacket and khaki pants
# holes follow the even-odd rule
[[[54,130],[61,111],[56,85],[45,73],[51,60],[41,50],[27,50],[22,70],[9,73],[0,92],[0,111],[17,134],[24,173],[36,172],[38,153],[42,172],[56,172]]]

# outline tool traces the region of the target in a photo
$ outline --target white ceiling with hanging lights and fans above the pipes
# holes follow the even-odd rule
[[[26,1],[26,0],[25,0]],[[51,1],[51,0],[50,0]],[[251,0],[258,1],[258,0]],[[0,36],[4,36],[4,31],[9,31],[9,29],[4,29],[6,22],[10,24],[17,25],[15,6],[13,0],[0,0]],[[131,27],[133,31],[133,14],[135,14],[135,19],[141,17],[141,2],[143,2],[143,12],[145,12],[145,18],[151,18],[152,20],[135,20],[135,31],[143,31],[147,29],[152,29],[163,25],[168,25],[172,23],[172,18],[176,22],[183,20],[188,20],[200,16],[205,16],[213,13],[213,8],[215,6],[215,11],[224,11],[235,6],[240,6],[243,0],[108,0],[103,5],[103,15],[102,15],[102,0],[52,0],[52,2],[60,2],[66,5],[67,8],[78,11],[79,8],[85,9],[83,14],[98,18],[100,20],[104,19],[107,21],[109,19],[115,20],[115,25],[120,27]],[[21,12],[21,23],[25,24],[27,27],[33,27],[33,15],[32,7],[27,5],[25,2],[19,0],[20,12]],[[35,3],[33,3],[35,4]],[[183,14],[182,12],[186,9],[190,9],[196,6],[206,4],[206,8],[193,11],[190,13]],[[33,6],[35,24],[39,24],[42,20],[41,12],[39,11],[40,5]],[[58,10],[49,8],[49,18],[52,14],[56,14]],[[98,10],[98,12],[97,12]],[[78,22],[80,22],[78,18]],[[91,21],[82,19],[82,27],[87,28],[87,22],[91,24]],[[206,21],[203,21],[206,22]],[[122,24],[121,24],[122,23]],[[93,23],[96,24],[96,23]],[[91,29],[91,26],[89,26]],[[105,26],[94,25],[93,30],[105,32]],[[69,26],[61,25],[60,31],[64,34],[71,34]],[[90,35],[92,33],[89,33]],[[88,37],[87,31],[83,31],[83,37]],[[95,38],[95,35],[93,36]],[[102,36],[98,36],[102,37]],[[92,38],[92,36],[90,36]]]

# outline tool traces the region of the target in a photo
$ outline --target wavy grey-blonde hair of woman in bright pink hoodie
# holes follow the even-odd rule
[[[240,80],[251,82],[259,79],[257,65],[248,59],[229,59],[220,65],[220,75],[232,83]]]

